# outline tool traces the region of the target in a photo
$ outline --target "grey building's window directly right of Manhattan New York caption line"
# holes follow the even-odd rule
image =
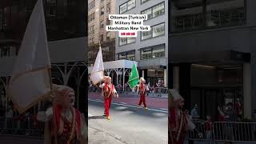
[[[158,24],[156,26],[151,26],[150,31],[142,31],[141,39],[146,40],[149,38],[159,37],[165,34],[165,23]]]

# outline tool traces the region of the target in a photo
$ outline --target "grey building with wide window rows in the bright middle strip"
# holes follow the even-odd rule
[[[144,25],[147,32],[139,32],[137,38],[115,38],[116,59],[138,62],[140,75],[150,86],[161,81],[167,86],[168,58],[168,1],[120,0],[116,2],[116,14],[147,14]]]

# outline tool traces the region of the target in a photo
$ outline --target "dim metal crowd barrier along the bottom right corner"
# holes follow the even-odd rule
[[[194,122],[187,140],[203,142],[252,142],[256,143],[256,122],[213,122],[211,128],[205,122]]]

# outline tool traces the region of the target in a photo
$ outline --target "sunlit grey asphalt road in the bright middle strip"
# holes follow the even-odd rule
[[[121,102],[113,102],[110,121],[102,117],[101,100],[89,99],[90,144],[167,144],[168,114],[166,110],[138,109]]]

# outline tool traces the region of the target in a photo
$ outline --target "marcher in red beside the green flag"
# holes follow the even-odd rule
[[[141,95],[140,100],[138,102],[138,107],[140,107],[143,102],[145,109],[147,109],[147,106],[146,106],[146,80],[144,78],[140,78],[140,80],[139,80],[138,91],[139,91],[139,94]]]

